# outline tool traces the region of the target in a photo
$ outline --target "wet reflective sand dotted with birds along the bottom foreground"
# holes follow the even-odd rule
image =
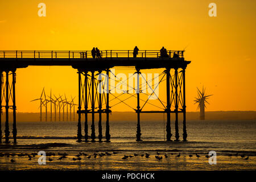
[[[43,148],[42,148],[43,150]],[[170,152],[170,151],[88,151],[88,150],[65,150],[64,148],[51,148],[44,150],[47,153],[46,164],[39,165],[38,148],[12,151],[1,150],[0,170],[255,170],[256,156],[241,154],[217,155],[217,164],[210,165],[205,152]],[[157,154],[158,152],[159,154]],[[33,154],[34,153],[34,154]],[[135,155],[137,156],[134,156]],[[146,158],[145,154],[150,156]],[[177,155],[180,156],[178,157]],[[22,155],[20,155],[22,154]],[[54,154],[54,155],[53,155]],[[66,155],[66,158],[59,159]],[[166,154],[166,155],[165,155]],[[192,155],[192,156],[189,156]],[[19,155],[19,156],[18,156]],[[31,160],[28,157],[31,156]],[[33,157],[33,155],[35,155]],[[80,156],[77,156],[80,155]],[[122,159],[123,156],[129,156]],[[143,155],[143,156],[142,156]],[[90,156],[90,159],[88,157]],[[96,156],[94,158],[94,156]],[[131,157],[130,157],[131,156]],[[156,159],[155,156],[163,159]],[[167,158],[166,158],[167,156]],[[74,159],[73,159],[74,158]],[[79,160],[79,158],[81,158]],[[49,159],[52,159],[50,162]],[[14,160],[12,163],[11,160]]]

